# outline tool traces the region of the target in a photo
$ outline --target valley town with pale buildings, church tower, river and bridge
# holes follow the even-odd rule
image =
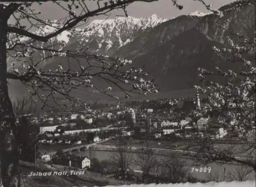
[[[121,154],[129,151],[129,154],[136,155],[140,154],[141,149],[143,152],[143,148],[150,148],[154,150],[152,154],[159,157],[171,154],[178,159],[194,160],[182,165],[191,175],[190,180],[207,181],[207,174],[219,168],[201,167],[202,171],[200,167],[195,168],[197,144],[204,134],[210,134],[208,138],[217,145],[243,146],[253,143],[255,131],[240,134],[234,128],[236,121],[230,121],[228,126],[222,125],[218,111],[198,116],[197,113],[204,107],[205,102],[207,99],[201,98],[195,92],[194,97],[188,98],[98,103],[84,111],[27,114],[30,125],[37,130],[35,162],[58,166],[61,169],[59,173],[62,170],[71,172],[75,168],[120,179],[122,176],[118,175],[120,172],[116,168],[118,166],[115,166],[117,163],[112,160],[115,157],[114,152]],[[113,155],[103,156],[104,152]],[[127,166],[125,176],[138,181],[141,171],[135,166],[135,162],[133,160],[131,166]],[[206,172],[203,172],[204,168]],[[152,167],[151,170],[154,181],[156,168]],[[200,172],[206,175],[202,178],[201,174],[201,179],[193,176]],[[163,177],[159,180],[168,181],[164,178],[164,172],[161,174]]]

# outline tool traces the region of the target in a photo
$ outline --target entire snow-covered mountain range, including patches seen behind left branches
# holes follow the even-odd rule
[[[78,42],[77,45],[86,44],[94,52],[108,53],[109,51],[110,54],[133,41],[138,32],[154,28],[166,20],[156,14],[143,18],[116,16],[114,19],[96,19],[84,29],[63,31],[56,37],[51,38],[49,42],[52,44],[58,43],[61,48],[73,42]],[[47,20],[46,25],[39,27],[33,33],[39,36],[46,36],[54,33],[62,26],[62,22],[58,20]],[[26,42],[29,38],[22,37],[22,40]],[[71,40],[72,42],[70,43]]]

